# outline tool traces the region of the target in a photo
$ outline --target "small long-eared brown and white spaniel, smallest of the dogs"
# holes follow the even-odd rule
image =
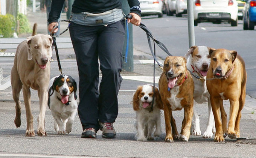
[[[160,109],[163,109],[158,87],[155,87],[153,111],[151,111],[154,88],[150,84],[139,86],[133,95],[133,110],[136,111],[136,138],[138,141],[154,140],[161,135]]]

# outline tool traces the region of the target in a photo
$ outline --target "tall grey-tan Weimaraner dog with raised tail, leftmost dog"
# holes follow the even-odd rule
[[[15,53],[14,66],[11,71],[12,96],[16,103],[14,123],[17,128],[21,125],[20,91],[22,89],[27,116],[26,136],[35,136],[30,108],[30,88],[38,91],[40,101],[37,134],[46,135],[44,117],[48,99],[47,88],[50,81],[49,60],[52,57],[52,42],[52,37],[49,35],[30,36],[18,45]]]

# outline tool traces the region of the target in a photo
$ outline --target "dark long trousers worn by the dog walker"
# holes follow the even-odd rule
[[[98,120],[113,123],[118,114],[125,23],[122,20],[107,27],[71,23],[69,31],[79,72],[78,115],[83,130],[98,131]],[[99,89],[98,59],[102,72]]]

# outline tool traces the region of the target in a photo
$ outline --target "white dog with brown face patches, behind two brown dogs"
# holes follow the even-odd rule
[[[206,75],[210,66],[210,55],[209,51],[213,51],[215,49],[209,48],[206,46],[192,46],[187,51],[185,57],[187,58],[187,69],[201,77],[203,80],[198,80],[195,77],[192,77],[194,80],[194,108],[193,108],[193,120],[191,133],[194,135],[201,135],[200,130],[200,120],[195,110],[196,102],[198,104],[202,104],[204,102],[208,103],[208,121],[207,128],[203,134],[203,138],[211,138],[215,133],[215,123],[214,117],[212,113],[212,105],[210,102],[210,94],[206,87]]]

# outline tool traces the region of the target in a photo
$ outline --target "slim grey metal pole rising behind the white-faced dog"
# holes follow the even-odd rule
[[[187,23],[189,29],[189,48],[195,45],[193,0],[187,0]]]

